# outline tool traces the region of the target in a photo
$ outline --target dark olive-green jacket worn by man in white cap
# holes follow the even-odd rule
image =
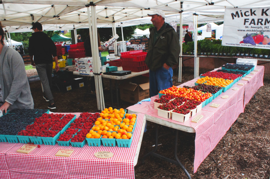
[[[149,28],[148,52],[145,59],[145,63],[152,71],[157,70],[164,63],[171,67],[177,64],[180,54],[179,37],[173,27],[167,24],[153,44],[154,28],[156,27]]]

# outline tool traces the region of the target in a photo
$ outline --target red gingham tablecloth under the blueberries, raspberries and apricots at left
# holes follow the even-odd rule
[[[80,113],[71,114],[76,114],[76,118],[80,115]],[[42,144],[31,153],[22,154],[17,153],[16,150],[24,144],[0,142],[0,173],[4,175],[4,178],[11,179],[134,179],[134,166],[137,164],[139,141],[143,135],[144,125],[144,114],[137,114],[130,148],[92,147],[87,143],[83,148]],[[70,157],[55,156],[59,149],[73,149],[74,151]],[[108,151],[114,155],[109,159],[99,159],[94,156],[94,153],[98,151]]]

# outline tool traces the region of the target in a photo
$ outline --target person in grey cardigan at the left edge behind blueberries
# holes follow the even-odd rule
[[[33,109],[34,102],[21,55],[4,44],[0,22],[0,110]]]

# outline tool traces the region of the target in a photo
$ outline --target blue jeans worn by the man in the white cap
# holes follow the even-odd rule
[[[150,97],[156,96],[160,90],[173,86],[173,69],[161,66],[156,71],[149,70]]]

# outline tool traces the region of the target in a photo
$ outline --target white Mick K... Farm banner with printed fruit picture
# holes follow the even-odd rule
[[[270,49],[270,7],[225,8],[222,45]]]

